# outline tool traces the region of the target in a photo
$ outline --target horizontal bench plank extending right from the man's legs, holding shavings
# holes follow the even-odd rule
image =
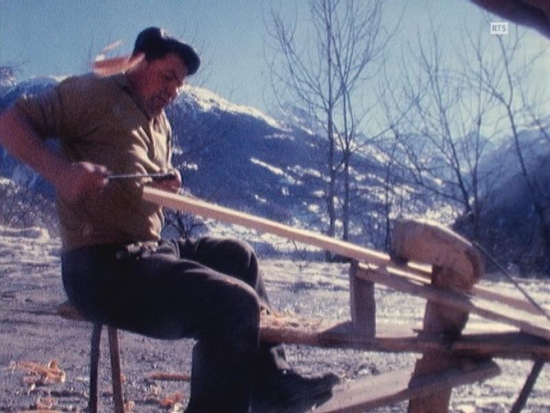
[[[474,330],[456,341],[426,335],[402,324],[378,323],[375,337],[355,330],[349,320],[305,319],[262,315],[261,339],[327,348],[354,348],[377,352],[450,352],[465,357],[550,360],[550,341],[508,330]]]

